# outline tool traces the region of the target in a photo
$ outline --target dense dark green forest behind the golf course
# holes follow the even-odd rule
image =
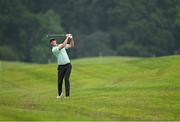
[[[0,60],[55,60],[48,33],[73,34],[71,58],[172,55],[179,32],[180,0],[0,0]]]

